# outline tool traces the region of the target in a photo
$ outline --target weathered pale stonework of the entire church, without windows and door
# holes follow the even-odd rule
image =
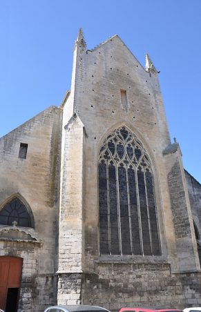
[[[161,254],[100,255],[97,164],[104,138],[126,126],[153,170]],[[20,144],[28,144],[26,159]],[[114,36],[86,50],[75,43],[70,92],[0,139],[1,208],[19,197],[34,228],[0,225],[0,256],[23,258],[19,311],[50,304],[200,304],[200,184],[171,144],[157,70],[146,70]],[[186,184],[187,180],[187,184]],[[16,235],[15,235],[16,233]],[[199,241],[199,242],[198,242]]]

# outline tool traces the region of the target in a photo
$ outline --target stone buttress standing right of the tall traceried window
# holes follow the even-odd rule
[[[178,259],[175,272],[196,272],[200,269],[200,263],[180,150],[165,157],[169,167],[167,179]]]

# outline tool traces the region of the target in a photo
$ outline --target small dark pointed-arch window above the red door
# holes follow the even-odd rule
[[[33,227],[25,204],[18,197],[7,202],[0,211],[0,224]]]

